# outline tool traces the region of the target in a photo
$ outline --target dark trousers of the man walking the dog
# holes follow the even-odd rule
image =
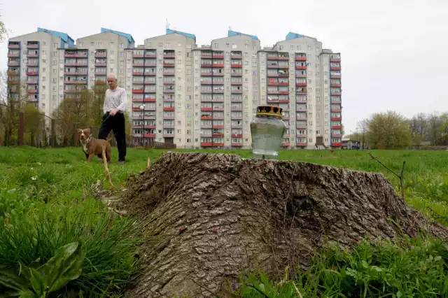
[[[113,130],[113,135],[117,141],[118,160],[124,161],[126,156],[125,114],[116,113],[115,116],[111,116],[106,113],[103,115],[98,139],[106,140],[111,130]]]

